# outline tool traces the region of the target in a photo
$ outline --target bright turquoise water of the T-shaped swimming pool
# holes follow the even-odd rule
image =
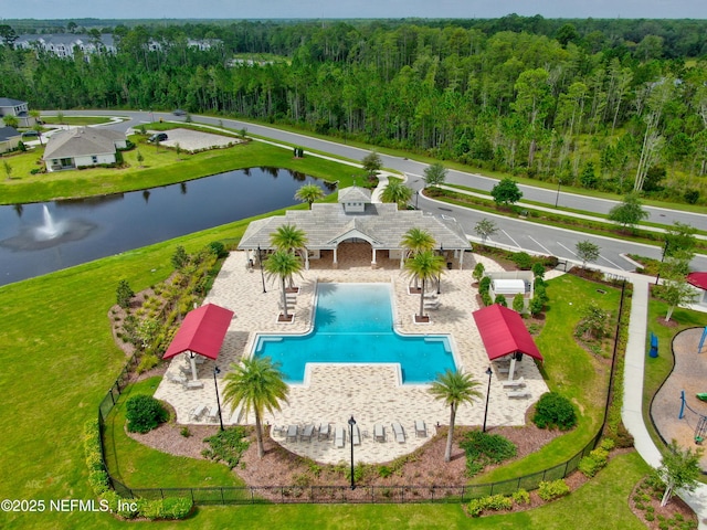
[[[455,369],[447,336],[393,331],[388,284],[319,284],[314,330],[306,336],[261,335],[255,357],[281,363],[287,383],[302,383],[308,362],[399,363],[402,381],[429,383]]]

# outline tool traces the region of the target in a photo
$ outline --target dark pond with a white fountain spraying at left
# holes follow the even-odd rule
[[[298,203],[295,192],[334,184],[251,168],[149,190],[0,206],[0,285],[119,254]]]

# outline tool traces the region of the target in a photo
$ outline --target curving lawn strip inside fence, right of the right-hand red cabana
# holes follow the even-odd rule
[[[599,294],[598,288],[605,294]],[[548,282],[548,296],[546,322],[536,344],[545,358],[542,371],[548,386],[574,403],[579,424],[539,452],[478,477],[474,484],[506,480],[561,464],[584,447],[601,426],[610,364],[576,343],[574,328],[589,300],[611,311],[614,322],[621,292],[566,274]],[[530,360],[524,359],[523,362]]]

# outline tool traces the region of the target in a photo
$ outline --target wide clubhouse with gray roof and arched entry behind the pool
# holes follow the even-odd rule
[[[372,203],[371,194],[362,188],[339,190],[336,204],[315,203],[312,210],[288,210],[285,215],[253,221],[249,224],[239,250],[247,251],[255,263],[261,252],[274,251],[271,234],[282,225],[295,225],[307,236],[305,268],[310,259],[330,257],[338,267],[338,251],[347,243],[370,246],[371,268],[378,259],[399,259],[404,265],[405,252],[401,241],[410,229],[428,231],[436,241],[447,266],[456,262],[462,268],[464,251],[471,250],[464,230],[453,218],[431,215],[420,210],[398,210],[395,204]]]

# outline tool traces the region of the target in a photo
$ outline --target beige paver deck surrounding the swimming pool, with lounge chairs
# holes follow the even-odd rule
[[[370,246],[369,246],[370,248]],[[380,268],[371,269],[370,263],[357,256],[362,248],[351,245],[351,255],[340,254],[339,268],[330,268],[326,261],[313,261],[312,268],[295,279],[300,288],[293,324],[278,324],[278,301],[281,292],[278,282],[265,277],[266,293],[263,293],[260,269],[247,268],[245,253],[233,252],[223,264],[204,304],[212,303],[235,311],[231,326],[221,348],[218,365],[221,373],[217,381],[220,395],[223,393],[222,378],[231,363],[250,354],[256,332],[262,333],[304,333],[310,329],[314,293],[317,282],[341,283],[391,283],[394,292],[393,321],[402,333],[450,333],[463,370],[481,382],[479,391],[484,398],[474,406],[462,405],[457,411],[456,425],[481,425],[484,417],[485,395],[488,378],[485,373],[489,365],[486,350],[482,343],[472,312],[478,309],[476,288],[472,287],[474,263],[466,254],[463,271],[446,271],[442,276],[440,307],[430,310],[431,324],[414,324],[413,316],[419,310],[419,295],[408,294],[409,279],[400,268],[398,261],[381,261]],[[474,255],[484,263],[486,271],[500,271],[500,267],[486,258]],[[436,286],[432,288],[436,290]],[[187,360],[179,356],[172,360],[168,374],[179,375],[180,367],[187,368]],[[199,405],[215,404],[213,384],[214,362],[207,360],[198,367],[200,389],[184,389],[166,377],[155,396],[169,402],[177,411],[177,422],[182,424],[213,424],[218,418],[208,417],[208,413],[194,420],[190,412]],[[526,398],[509,398],[502,381],[506,374],[498,374],[494,363],[492,375],[487,425],[524,425],[528,406],[548,391],[537,367],[530,359],[516,364],[516,378],[523,377],[528,392]],[[500,379],[499,379],[500,377]],[[191,378],[190,378],[191,379]],[[435,426],[449,424],[450,410],[435,401],[426,391],[428,385],[400,385],[397,371],[390,365],[374,364],[317,364],[312,367],[308,384],[291,385],[289,403],[283,404],[281,412],[266,413],[264,422],[272,427],[298,425],[299,431],[307,424],[319,426],[330,424],[329,439],[319,441],[316,433],[312,441],[287,441],[285,432],[272,430],[273,439],[287,449],[320,463],[336,464],[348,462],[350,457],[349,437],[342,448],[334,445],[334,432],[337,426],[346,428],[351,415],[361,431],[361,445],[356,446],[356,459],[366,463],[382,463],[411,453],[434,435]],[[254,423],[252,414],[244,417],[240,411],[223,410],[224,424]],[[428,427],[428,436],[415,435],[415,421],[422,420]],[[405,432],[405,442],[397,443],[391,423],[399,422]],[[373,441],[373,426],[386,427],[386,441]]]

